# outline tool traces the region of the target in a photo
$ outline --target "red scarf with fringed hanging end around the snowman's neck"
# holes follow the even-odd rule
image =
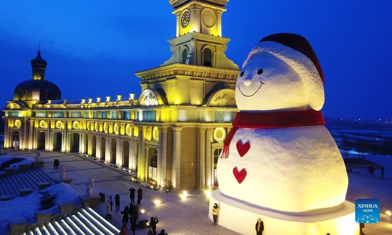
[[[325,121],[321,111],[302,110],[302,111],[286,111],[278,113],[237,113],[233,128],[223,144],[221,158],[228,158],[230,142],[234,137],[238,128],[250,129],[274,129],[297,126],[317,126],[324,125]]]

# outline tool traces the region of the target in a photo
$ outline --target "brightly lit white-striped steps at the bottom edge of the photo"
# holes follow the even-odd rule
[[[80,209],[22,235],[118,235],[120,230],[91,208]]]

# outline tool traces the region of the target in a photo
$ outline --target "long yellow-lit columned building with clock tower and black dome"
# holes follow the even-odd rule
[[[237,112],[239,68],[225,56],[229,39],[221,35],[227,1],[169,0],[176,15],[172,56],[135,73],[142,79],[138,98],[61,100],[45,80],[39,51],[32,79],[17,86],[4,109],[4,147],[79,152],[137,171],[160,188],[212,187]]]

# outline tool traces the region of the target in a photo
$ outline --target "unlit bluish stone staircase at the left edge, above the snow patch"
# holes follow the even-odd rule
[[[0,178],[0,200],[24,196],[52,184],[56,184],[55,180],[40,168],[10,174]]]

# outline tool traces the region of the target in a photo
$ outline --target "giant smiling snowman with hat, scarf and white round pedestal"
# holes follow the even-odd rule
[[[358,234],[342,155],[320,112],[323,82],[300,35],[273,34],[249,52],[210,198],[219,225],[252,235],[261,218],[263,235]]]

